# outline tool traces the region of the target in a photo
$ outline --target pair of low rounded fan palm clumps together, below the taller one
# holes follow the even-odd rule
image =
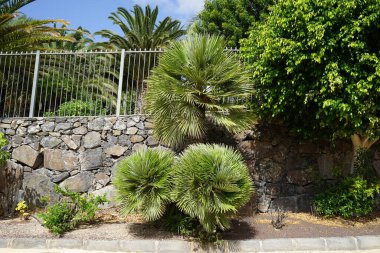
[[[117,168],[114,184],[124,214],[140,213],[202,241],[219,241],[218,232],[253,191],[241,155],[219,145],[191,145],[177,160],[171,151],[142,149]]]

